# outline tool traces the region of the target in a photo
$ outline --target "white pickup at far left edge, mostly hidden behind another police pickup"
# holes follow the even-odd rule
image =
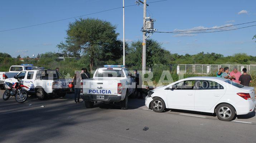
[[[0,89],[4,90],[4,81],[8,78],[13,78],[14,75],[18,74],[23,70],[32,68],[33,64],[21,64],[21,65],[12,65],[9,69],[9,72],[0,72]]]

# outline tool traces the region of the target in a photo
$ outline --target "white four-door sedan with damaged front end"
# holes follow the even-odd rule
[[[155,112],[165,108],[209,112],[222,121],[255,111],[255,104],[253,87],[217,77],[185,78],[149,91],[145,100]]]

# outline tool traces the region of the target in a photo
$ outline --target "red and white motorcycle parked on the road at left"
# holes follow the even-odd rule
[[[17,76],[14,76],[17,79]],[[23,88],[28,88],[27,86],[23,85],[23,81],[17,79],[18,82],[12,84],[9,82],[5,82],[5,88],[3,99],[8,100],[10,96],[15,96],[15,100],[18,103],[23,103],[28,99],[28,93]]]

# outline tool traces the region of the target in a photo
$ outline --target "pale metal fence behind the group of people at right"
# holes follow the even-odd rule
[[[237,68],[242,72],[243,68],[247,69],[250,74],[256,74],[256,65],[242,65],[242,64],[178,64],[177,73],[182,71],[185,73],[195,74],[214,74],[218,72],[219,68],[228,67],[229,69]]]

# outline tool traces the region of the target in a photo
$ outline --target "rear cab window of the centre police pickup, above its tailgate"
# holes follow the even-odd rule
[[[122,70],[97,70],[95,77],[125,77]]]

